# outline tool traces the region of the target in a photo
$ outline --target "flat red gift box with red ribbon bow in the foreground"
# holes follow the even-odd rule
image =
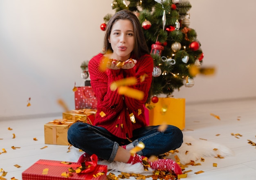
[[[63,172],[71,174],[68,177],[69,180],[106,180],[108,166],[97,164],[98,158],[95,154],[91,156],[91,159],[92,162],[85,162],[83,164],[83,166],[88,168],[82,170],[81,173],[69,172],[70,168],[75,170],[81,167],[81,163],[70,162],[70,164],[40,159],[22,172],[22,180],[67,180],[66,176],[61,176]],[[46,173],[43,173],[45,171]]]

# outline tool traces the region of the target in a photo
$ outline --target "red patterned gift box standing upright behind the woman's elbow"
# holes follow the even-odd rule
[[[76,87],[75,109],[97,109],[97,98],[91,86]]]

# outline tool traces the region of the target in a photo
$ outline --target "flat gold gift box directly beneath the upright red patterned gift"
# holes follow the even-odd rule
[[[62,113],[62,118],[67,120],[72,120],[74,122],[85,122],[88,124],[93,124],[96,109],[79,109],[79,110],[71,110]]]

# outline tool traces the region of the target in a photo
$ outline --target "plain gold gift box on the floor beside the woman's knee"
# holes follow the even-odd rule
[[[44,125],[45,144],[70,145],[67,141],[67,130],[74,121],[56,119]]]

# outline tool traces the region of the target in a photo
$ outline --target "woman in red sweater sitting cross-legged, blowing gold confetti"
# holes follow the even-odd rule
[[[156,156],[180,147],[183,136],[177,127],[168,125],[162,132],[159,126],[146,125],[143,104],[150,98],[154,63],[134,13],[121,10],[110,18],[103,52],[88,64],[91,85],[98,100],[94,124],[76,122],[68,130],[70,144],[85,151],[79,162],[90,160],[90,155],[96,154],[109,162],[142,163],[144,156]],[[107,70],[103,71],[101,63],[106,58],[112,61],[108,61]],[[144,81],[140,81],[145,74]],[[112,82],[128,77],[137,78],[137,83],[130,87],[144,92],[142,100],[110,89]],[[145,148],[132,156],[130,149],[139,142],[143,142]],[[182,173],[180,166],[170,159],[158,159],[149,164],[152,169]]]

